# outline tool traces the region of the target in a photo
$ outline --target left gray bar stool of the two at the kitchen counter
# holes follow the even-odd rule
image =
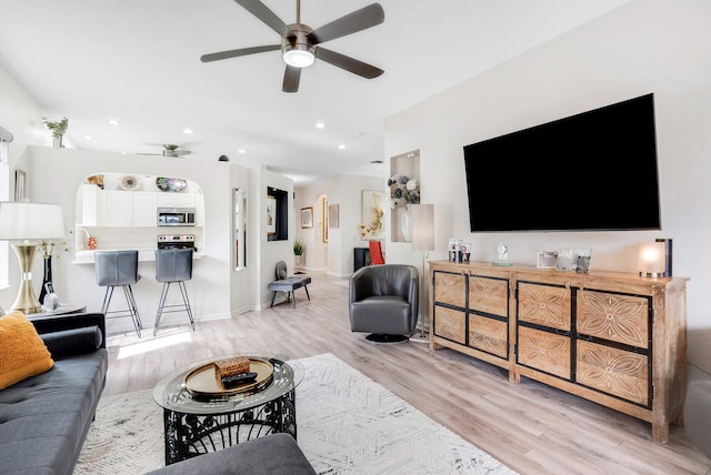
[[[141,279],[138,275],[138,251],[97,251],[93,254],[94,269],[97,271],[97,284],[106,286],[107,291],[103,295],[103,305],[101,313],[109,317],[131,316],[136,333],[141,336],[143,324],[138,313],[138,305],[133,297],[132,284],[138,283]],[[122,287],[126,295],[128,309],[116,310],[109,312],[113,290]]]

